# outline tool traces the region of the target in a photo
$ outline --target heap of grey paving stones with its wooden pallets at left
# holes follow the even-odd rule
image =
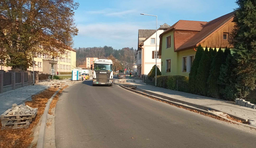
[[[28,128],[32,119],[37,115],[38,108],[32,108],[28,105],[13,104],[12,108],[6,110],[0,115],[2,128]]]

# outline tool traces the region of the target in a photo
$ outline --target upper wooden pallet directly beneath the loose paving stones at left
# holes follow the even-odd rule
[[[8,115],[8,113],[11,111],[12,109],[7,109],[2,115],[0,115],[1,120],[10,120],[10,118],[12,120],[14,119],[25,119],[25,118],[34,118],[37,115],[37,111],[38,108],[34,108],[33,110],[33,114],[25,114],[25,115]]]

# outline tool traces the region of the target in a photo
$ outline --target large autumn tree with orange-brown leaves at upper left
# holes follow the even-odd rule
[[[60,56],[78,29],[73,0],[4,0],[0,2],[0,55],[5,66],[27,70],[37,54]]]

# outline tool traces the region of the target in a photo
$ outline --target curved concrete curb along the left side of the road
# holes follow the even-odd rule
[[[64,85],[67,86],[67,85]],[[46,130],[46,123],[47,123],[47,115],[49,112],[49,108],[50,108],[50,104],[53,101],[53,98],[55,97],[55,95],[61,90],[61,88],[63,88],[64,86],[60,87],[54,94],[53,96],[48,100],[45,109],[44,109],[44,113],[41,117],[41,125],[40,125],[40,129],[39,129],[39,134],[38,134],[38,140],[37,140],[37,148],[43,148],[44,147],[44,136],[45,136],[45,130]]]

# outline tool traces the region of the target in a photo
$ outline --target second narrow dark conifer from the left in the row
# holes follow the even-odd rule
[[[203,56],[200,60],[198,70],[197,70],[197,88],[199,90],[198,94],[207,95],[207,80],[209,77],[211,68],[211,56],[209,50],[206,47]]]

